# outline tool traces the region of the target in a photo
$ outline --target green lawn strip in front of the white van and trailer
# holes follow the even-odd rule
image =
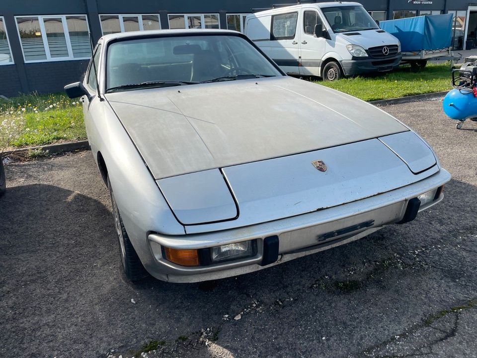
[[[439,92],[452,88],[450,65],[447,64],[428,64],[418,73],[411,72],[409,66],[400,66],[385,75],[317,83],[366,101]]]

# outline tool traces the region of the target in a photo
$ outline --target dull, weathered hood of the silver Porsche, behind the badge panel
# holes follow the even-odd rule
[[[155,179],[407,131],[384,111],[290,77],[108,93]]]

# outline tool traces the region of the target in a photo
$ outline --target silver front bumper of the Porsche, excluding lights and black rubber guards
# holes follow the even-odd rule
[[[168,236],[151,233],[148,235],[148,242],[153,260],[149,261],[151,264],[146,265],[146,269],[162,280],[197,282],[274,266],[358,240],[385,225],[397,223],[404,217],[409,200],[442,186],[450,179],[450,174],[440,169],[438,173],[427,179],[396,190],[286,219],[204,234]],[[434,201],[421,206],[419,211],[435,205],[442,198],[441,194]],[[363,223],[366,225],[361,226]],[[335,234],[330,236],[329,233]],[[270,265],[262,266],[263,240],[272,236],[279,238],[278,260]],[[253,239],[257,240],[258,249],[254,257],[204,267],[175,265],[167,261],[161,251],[162,246],[192,250]]]

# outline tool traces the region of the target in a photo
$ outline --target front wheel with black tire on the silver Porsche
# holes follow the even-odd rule
[[[109,176],[107,176],[107,184],[109,189],[109,196],[111,197],[111,208],[113,211],[114,228],[118,237],[119,244],[119,256],[121,259],[121,266],[124,274],[131,281],[138,281],[148,275],[146,269],[144,269],[141,260],[139,259],[136,250],[134,250],[133,244],[129,240],[128,233],[124,228],[123,219],[119,213],[118,206],[116,205],[116,199],[114,198],[113,189],[111,188],[111,182]]]

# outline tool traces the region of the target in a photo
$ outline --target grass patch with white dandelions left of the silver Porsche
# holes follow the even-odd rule
[[[1,124],[14,130],[0,136],[0,151],[86,138],[80,103],[61,93],[0,98]]]

